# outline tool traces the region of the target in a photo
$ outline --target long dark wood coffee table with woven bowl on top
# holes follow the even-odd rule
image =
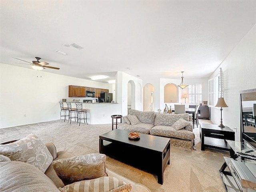
[[[170,139],[140,134],[139,140],[130,140],[128,133],[116,129],[100,135],[100,153],[156,174],[163,184],[164,170],[170,164]]]

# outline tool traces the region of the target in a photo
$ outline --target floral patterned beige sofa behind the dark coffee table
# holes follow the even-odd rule
[[[195,134],[188,113],[156,114],[130,109],[118,129],[168,137],[174,148],[193,149]]]

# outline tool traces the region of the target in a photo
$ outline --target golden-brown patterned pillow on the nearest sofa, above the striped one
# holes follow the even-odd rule
[[[52,166],[58,177],[67,185],[81,180],[108,176],[105,161],[105,154],[92,153],[55,160]]]

